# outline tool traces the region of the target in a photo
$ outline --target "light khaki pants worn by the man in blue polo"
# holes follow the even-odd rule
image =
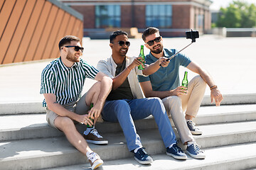
[[[203,81],[201,76],[196,76],[188,83],[187,95],[181,97],[169,96],[162,99],[166,112],[169,116],[171,115],[172,120],[174,120],[174,125],[183,143],[193,140],[193,136],[186,124],[183,111],[186,111],[186,115],[196,117],[205,91],[206,82]]]

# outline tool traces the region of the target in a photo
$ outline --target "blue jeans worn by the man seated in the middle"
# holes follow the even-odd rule
[[[129,151],[142,147],[133,120],[143,119],[149,115],[154,116],[165,147],[175,143],[174,130],[160,98],[106,101],[102,110],[103,120],[114,123],[119,122],[127,140]]]

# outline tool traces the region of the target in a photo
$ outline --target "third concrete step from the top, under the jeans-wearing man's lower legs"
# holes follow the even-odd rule
[[[201,125],[199,128],[203,130],[203,135],[195,136],[195,139],[201,148],[256,142],[255,123],[256,121]],[[139,130],[138,134],[149,154],[166,152],[158,130]],[[109,145],[90,145],[103,160],[133,157],[127,150],[122,133],[106,134],[105,138],[109,140]],[[87,162],[65,137],[0,142],[0,150],[0,169],[46,169]]]

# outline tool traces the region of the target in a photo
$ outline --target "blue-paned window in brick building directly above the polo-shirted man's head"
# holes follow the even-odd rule
[[[146,27],[171,28],[171,5],[146,5]]]

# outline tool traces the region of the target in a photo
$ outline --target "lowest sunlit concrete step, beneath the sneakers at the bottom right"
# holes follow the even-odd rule
[[[99,170],[171,170],[171,169],[191,169],[191,170],[215,170],[215,169],[255,169],[256,168],[256,142],[245,145],[231,145],[225,147],[208,148],[205,150],[206,159],[198,160],[188,156],[186,161],[178,161],[166,154],[151,155],[154,162],[151,165],[142,165],[134,158],[117,159],[105,161]],[[63,166],[51,170],[73,170],[90,169],[90,164],[78,164],[73,166]]]

